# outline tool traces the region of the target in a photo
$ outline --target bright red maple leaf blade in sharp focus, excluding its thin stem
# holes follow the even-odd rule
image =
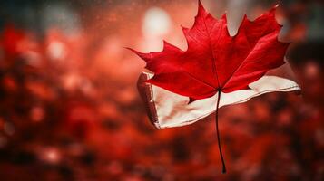
[[[191,29],[182,28],[188,43],[182,51],[164,41],[162,52],[142,53],[132,49],[154,72],[148,80],[174,93],[200,100],[218,90],[249,89],[267,71],[280,67],[289,43],[278,41],[281,25],[275,7],[251,22],[245,15],[238,33],[231,36],[226,14],[217,20],[199,2]]]

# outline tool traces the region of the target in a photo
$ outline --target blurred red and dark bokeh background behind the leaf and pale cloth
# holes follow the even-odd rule
[[[231,31],[275,1],[202,0]],[[324,180],[324,6],[282,0],[277,18],[302,97],[270,93],[154,129],[136,90],[144,63],[124,46],[185,49],[196,0],[0,2],[0,180]]]

